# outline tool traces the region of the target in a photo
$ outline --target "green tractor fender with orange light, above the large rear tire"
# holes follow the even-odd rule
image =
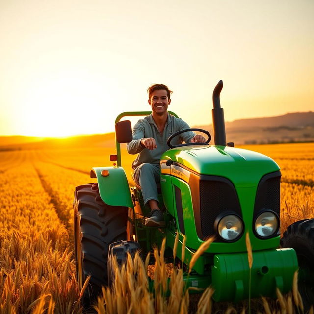
[[[122,167],[94,167],[91,178],[97,178],[99,194],[111,206],[133,207],[126,173]]]

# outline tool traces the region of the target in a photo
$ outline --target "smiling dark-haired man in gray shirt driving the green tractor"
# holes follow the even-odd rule
[[[135,124],[133,140],[127,144],[127,150],[129,154],[139,153],[132,166],[134,180],[141,187],[144,203],[151,209],[145,226],[164,226],[165,222],[157,197],[157,183],[160,182],[160,158],[169,149],[167,146],[169,136],[177,131],[188,129],[189,126],[182,119],[168,113],[172,91],[166,85],[152,85],[147,92],[152,113]],[[173,139],[172,143],[179,144],[183,141],[204,143],[205,138],[190,131],[180,134]]]

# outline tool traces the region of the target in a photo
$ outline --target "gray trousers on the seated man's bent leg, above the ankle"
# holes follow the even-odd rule
[[[158,201],[157,183],[160,183],[159,164],[142,163],[134,169],[134,180],[141,187],[144,203]]]

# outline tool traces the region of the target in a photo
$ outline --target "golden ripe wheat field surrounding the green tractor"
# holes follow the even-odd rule
[[[281,232],[294,221],[313,217],[313,143],[241,148],[272,157],[282,169]],[[73,191],[77,185],[93,182],[95,179],[89,177],[91,167],[111,165],[109,154],[114,153],[113,148],[102,147],[0,152],[0,314],[84,313],[73,254]],[[129,177],[133,158],[126,153],[122,156],[123,165],[128,165],[125,169]],[[164,274],[160,270],[165,267],[160,257],[162,252],[156,251],[154,254],[159,256],[155,271]],[[145,261],[137,258],[129,264],[130,274],[142,272],[141,277],[137,276],[141,278],[138,280],[142,280],[139,286],[146,287]],[[123,280],[127,273],[123,269],[120,271]],[[126,309],[119,308],[117,304],[123,302],[122,297],[127,298],[126,294],[133,292],[135,294],[130,294],[130,300],[137,298],[143,303],[138,301],[139,306],[130,307],[128,313],[188,313],[193,302],[196,304],[194,312],[214,311],[210,301],[212,290],[204,291],[197,301],[190,300],[182,287],[181,272],[176,269],[171,274],[174,291],[168,299],[163,293],[157,294],[154,299],[152,295],[145,294],[142,288],[136,289],[131,276],[127,276],[125,282],[120,282],[120,286],[116,283],[112,291],[103,289],[96,311],[126,313]],[[128,280],[129,288],[123,288]],[[292,300],[291,295],[283,297],[279,293],[276,303],[269,304],[265,299],[258,301],[256,311],[267,314],[292,313]],[[245,306],[240,310],[229,306],[219,310],[218,304],[215,311],[246,313],[247,309]]]

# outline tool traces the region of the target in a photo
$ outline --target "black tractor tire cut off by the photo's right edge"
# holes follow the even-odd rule
[[[298,290],[304,309],[314,305],[314,219],[291,224],[280,240],[282,247],[295,250],[299,263]]]

